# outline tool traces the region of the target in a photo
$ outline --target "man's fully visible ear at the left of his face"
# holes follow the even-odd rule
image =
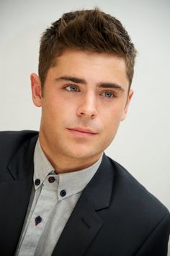
[[[40,107],[41,100],[42,100],[42,88],[41,88],[40,77],[38,77],[37,74],[32,73],[30,75],[30,79],[31,79],[32,101],[35,104],[35,106]]]

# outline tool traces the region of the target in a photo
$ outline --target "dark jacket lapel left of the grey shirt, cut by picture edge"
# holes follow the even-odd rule
[[[36,141],[37,136],[25,142],[19,148],[8,167],[11,179],[0,184],[0,230],[1,234],[3,234],[1,237],[2,255],[14,254],[22,231],[32,189],[33,155]],[[6,241],[8,241],[9,246]]]

